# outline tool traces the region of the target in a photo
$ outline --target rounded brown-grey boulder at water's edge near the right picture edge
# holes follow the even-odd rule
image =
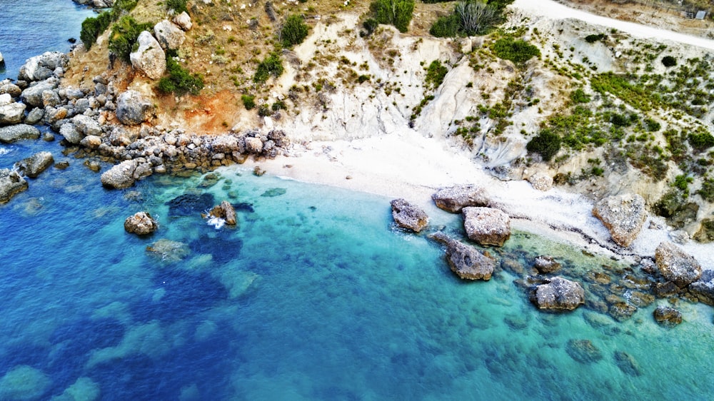
[[[702,267],[691,255],[687,255],[677,245],[665,241],[655,249],[655,263],[665,280],[684,288],[702,275]]]

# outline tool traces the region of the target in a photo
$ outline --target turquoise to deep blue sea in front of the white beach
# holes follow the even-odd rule
[[[393,227],[388,198],[241,168],[108,191],[56,142],[0,145],[0,168],[39,150],[71,166],[0,205],[0,400],[714,394],[708,306],[680,303],[685,323],[671,329],[654,305],[624,323],[540,313],[506,271],[456,278],[438,245]],[[238,228],[201,218],[221,200],[238,205]],[[149,238],[124,232],[139,210],[161,224]],[[428,211],[459,233],[458,216]],[[147,250],[167,240],[173,252]],[[527,233],[498,256],[528,266],[538,254],[565,275],[613,264]]]

